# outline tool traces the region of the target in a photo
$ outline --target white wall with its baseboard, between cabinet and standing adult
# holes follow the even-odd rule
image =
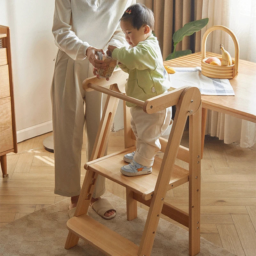
[[[11,31],[18,142],[52,131],[53,12],[54,0],[1,0],[0,24]]]

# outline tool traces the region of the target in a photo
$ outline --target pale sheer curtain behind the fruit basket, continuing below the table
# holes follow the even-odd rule
[[[214,25],[223,25],[230,28],[238,38],[240,59],[256,61],[256,3],[254,0],[203,0],[202,18],[209,17],[209,22],[202,29]],[[218,42],[218,43],[216,43]],[[234,57],[234,42],[231,37],[220,30],[209,34],[206,42],[206,51],[221,53],[220,42]],[[239,74],[238,74],[239,76]],[[205,134],[216,136],[224,143],[238,143],[243,148],[255,147],[256,124],[229,116],[216,111],[208,110]]]

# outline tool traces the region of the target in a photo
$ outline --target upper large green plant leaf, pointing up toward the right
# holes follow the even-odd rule
[[[178,29],[172,36],[172,40],[174,45],[178,44],[184,36],[191,36],[195,32],[204,28],[204,26],[208,23],[209,18],[205,18],[202,20],[195,20],[188,22],[184,25],[183,28]]]

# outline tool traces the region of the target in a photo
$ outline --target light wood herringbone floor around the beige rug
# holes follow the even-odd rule
[[[7,155],[9,179],[0,180],[1,226],[64,199],[53,193],[54,158],[43,147],[43,140],[50,135],[20,142],[18,154]],[[109,153],[124,147],[122,135],[123,130],[111,133]],[[188,144],[186,131],[182,143]],[[238,256],[255,256],[256,252],[255,156],[255,150],[205,136],[201,162],[201,236]],[[84,145],[81,182],[85,162]],[[106,185],[109,192],[125,198],[123,187],[109,180]],[[187,184],[169,191],[166,200],[188,211]]]

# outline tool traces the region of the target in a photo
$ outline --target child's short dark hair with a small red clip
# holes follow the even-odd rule
[[[138,30],[143,25],[148,25],[149,28],[154,30],[155,19],[153,12],[144,4],[132,4],[124,12],[120,20],[130,20],[132,27]]]

